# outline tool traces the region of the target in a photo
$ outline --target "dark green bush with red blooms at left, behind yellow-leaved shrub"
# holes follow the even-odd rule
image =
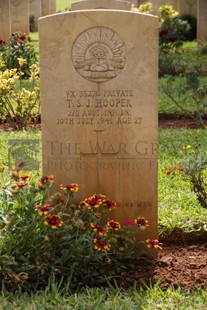
[[[37,62],[37,54],[28,36],[21,32],[15,32],[7,42],[4,41],[1,44],[1,41],[0,61],[5,63],[6,69],[16,69],[18,73],[24,73],[24,78],[29,78],[30,67]],[[20,65],[19,58],[25,60],[23,65]],[[1,70],[3,69],[1,68]]]

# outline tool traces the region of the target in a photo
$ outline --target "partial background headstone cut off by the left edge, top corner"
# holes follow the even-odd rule
[[[10,37],[11,28],[10,28],[10,10],[9,10],[9,1],[1,0],[0,1],[0,40],[7,41]]]

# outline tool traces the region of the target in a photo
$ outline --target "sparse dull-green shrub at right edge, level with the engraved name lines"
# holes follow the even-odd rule
[[[201,76],[206,75],[205,67],[186,66],[182,83],[175,83],[175,78],[170,76],[162,85],[163,92],[176,104],[184,115],[193,117],[203,124],[207,114],[207,86],[202,82]],[[194,114],[186,108],[186,102],[191,101]]]

